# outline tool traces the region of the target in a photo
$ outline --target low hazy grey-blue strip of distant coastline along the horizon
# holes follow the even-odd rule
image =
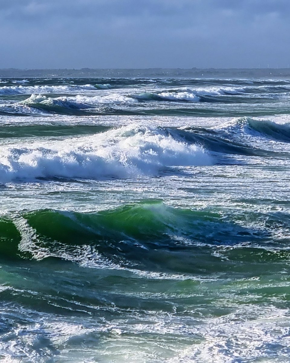
[[[290,78],[290,68],[0,69],[0,78],[5,77]]]

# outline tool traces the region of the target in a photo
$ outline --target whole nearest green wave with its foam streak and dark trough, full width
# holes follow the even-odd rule
[[[279,228],[283,218],[269,216],[269,228]],[[287,238],[275,242],[266,229],[243,228],[220,213],[173,208],[158,199],[95,213],[44,209],[0,220],[2,261],[58,258],[144,273],[240,273],[268,263],[281,268],[289,261],[288,247]]]

